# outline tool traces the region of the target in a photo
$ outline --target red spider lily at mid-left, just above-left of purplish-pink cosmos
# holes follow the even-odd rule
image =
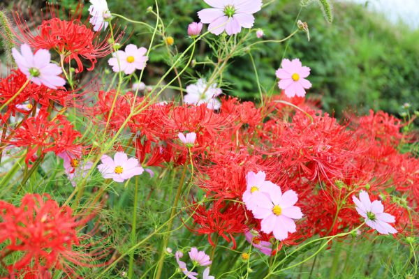
[[[40,113],[31,117],[17,128],[8,140],[8,144],[17,147],[27,147],[28,152],[25,162],[36,160],[36,156],[42,157],[48,152],[78,153],[80,145],[76,140],[82,135],[73,129],[73,125],[63,115],[57,115],[51,121],[48,120],[48,113]]]

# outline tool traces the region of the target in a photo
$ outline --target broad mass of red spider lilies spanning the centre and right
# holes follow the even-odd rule
[[[108,112],[113,98],[111,93],[101,94],[95,110]],[[408,140],[401,133],[402,123],[384,112],[339,123],[303,98],[293,102],[305,113],[277,101],[267,100],[265,107],[256,108],[253,103],[226,98],[221,110],[214,112],[206,105],[150,104],[144,98],[138,98],[133,107],[133,94],[127,93],[117,98],[115,106],[121,113],[112,116],[112,123],[119,125],[112,126],[120,128],[130,112],[139,111],[128,118],[127,132],[136,137],[140,161],[149,158],[154,165],[189,164],[189,149],[177,134],[196,133],[190,149],[193,168],[198,170],[195,182],[209,202],[189,204],[194,223],[189,228],[206,234],[210,243],[216,235],[235,243],[235,236],[260,229],[260,221],[240,204],[246,174],[259,170],[284,191],[298,193],[297,206],[304,218],[297,223],[297,232],[284,241],[287,245],[360,225],[351,196],[362,189],[382,199],[385,209],[396,217],[399,232],[409,234],[404,227],[415,225],[406,208],[417,206],[414,185],[419,182],[419,160],[397,150]],[[413,219],[417,224],[417,217]]]

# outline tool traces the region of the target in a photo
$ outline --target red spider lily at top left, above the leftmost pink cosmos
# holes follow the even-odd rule
[[[20,13],[13,13],[15,24],[19,31],[13,31],[16,44],[27,43],[35,50],[55,50],[66,63],[74,59],[78,65],[76,73],[83,71],[81,59],[90,61],[91,66],[87,70],[93,70],[98,58],[108,56],[112,52],[110,46],[110,34],[105,38],[99,38],[98,33],[87,28],[80,22],[82,5],[78,5],[73,15],[68,20],[57,17],[54,6],[50,6],[50,19],[43,20],[41,25],[32,33],[27,22]],[[33,21],[33,20],[31,20]],[[115,43],[122,40],[122,33],[115,38]]]

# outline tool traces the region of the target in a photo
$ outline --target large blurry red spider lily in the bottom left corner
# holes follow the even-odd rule
[[[70,264],[91,266],[91,257],[74,249],[81,246],[78,227],[86,220],[78,220],[70,206],[60,207],[49,195],[28,194],[20,206],[0,201],[0,216],[1,264],[11,274],[47,278],[47,269],[55,269],[71,276]],[[17,260],[5,264],[3,259],[15,254]]]

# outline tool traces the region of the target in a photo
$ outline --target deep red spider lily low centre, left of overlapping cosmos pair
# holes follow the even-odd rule
[[[188,212],[191,213],[194,223],[193,232],[197,234],[207,234],[208,241],[212,246],[211,234],[223,237],[228,243],[233,242],[233,249],[236,247],[235,234],[242,234],[249,230],[245,216],[246,210],[239,203],[212,202],[212,206],[207,209],[204,205],[197,203],[189,206]]]

